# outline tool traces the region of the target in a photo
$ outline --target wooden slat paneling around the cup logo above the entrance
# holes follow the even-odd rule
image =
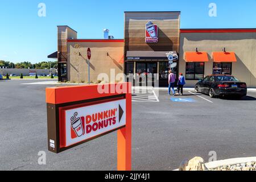
[[[145,26],[150,20],[158,25],[158,43],[145,43]],[[178,12],[125,13],[125,52],[178,51],[179,27]]]

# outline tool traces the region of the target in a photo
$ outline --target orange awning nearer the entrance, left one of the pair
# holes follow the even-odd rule
[[[185,52],[186,62],[208,62],[207,52]]]

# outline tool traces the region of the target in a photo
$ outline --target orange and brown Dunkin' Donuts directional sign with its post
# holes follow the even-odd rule
[[[117,131],[117,169],[131,171],[131,83],[47,88],[46,102],[49,151]]]

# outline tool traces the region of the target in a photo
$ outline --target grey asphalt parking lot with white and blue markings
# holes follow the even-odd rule
[[[0,170],[115,170],[117,134],[61,154],[47,151],[45,84],[0,81]],[[152,91],[152,90],[151,90]],[[217,159],[256,155],[256,93],[242,100],[185,91],[133,92],[133,170],[173,170],[209,152]],[[46,151],[46,165],[38,152]]]

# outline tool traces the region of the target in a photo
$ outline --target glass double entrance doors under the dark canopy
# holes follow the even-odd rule
[[[136,63],[136,85],[155,86],[155,75],[158,73],[157,63]]]

